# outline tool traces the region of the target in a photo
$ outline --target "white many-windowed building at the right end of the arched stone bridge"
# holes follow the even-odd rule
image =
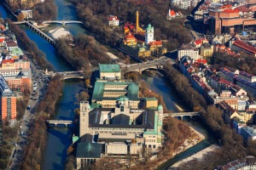
[[[177,50],[177,59],[180,60],[183,56],[189,56],[190,59],[201,59],[199,50],[192,44],[182,44]]]

